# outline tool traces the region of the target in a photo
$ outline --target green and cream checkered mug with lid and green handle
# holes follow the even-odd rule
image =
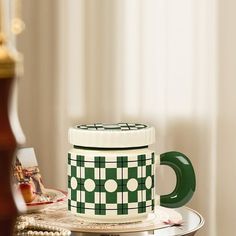
[[[68,209],[96,222],[128,222],[146,217],[156,205],[180,207],[195,191],[195,174],[182,153],[160,156],[148,149],[155,129],[143,124],[80,125],[69,130]],[[155,194],[157,165],[168,165],[177,184]],[[128,218],[127,218],[128,216]]]

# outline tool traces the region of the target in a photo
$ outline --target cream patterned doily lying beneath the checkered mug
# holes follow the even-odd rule
[[[142,221],[133,223],[96,223],[89,222],[67,210],[67,204],[62,202],[32,215],[39,223],[47,223],[64,227],[75,232],[90,233],[132,233],[156,230],[180,223],[182,216],[174,209],[156,207],[154,213]]]

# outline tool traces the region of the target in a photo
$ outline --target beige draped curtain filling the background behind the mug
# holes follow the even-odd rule
[[[234,235],[236,3],[230,0],[23,1],[20,119],[45,184],[66,189],[67,129],[139,121],[157,152],[192,160],[198,235]],[[160,169],[158,192],[175,178]]]

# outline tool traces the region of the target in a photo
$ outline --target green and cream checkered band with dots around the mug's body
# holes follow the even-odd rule
[[[154,153],[138,156],[68,155],[68,208],[92,215],[154,209]]]

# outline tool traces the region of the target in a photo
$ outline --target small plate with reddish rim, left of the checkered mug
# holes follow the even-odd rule
[[[65,198],[66,194],[61,190],[46,189],[46,193],[43,196],[38,196],[33,202],[26,204],[27,212],[42,210],[57,202],[65,200]]]

